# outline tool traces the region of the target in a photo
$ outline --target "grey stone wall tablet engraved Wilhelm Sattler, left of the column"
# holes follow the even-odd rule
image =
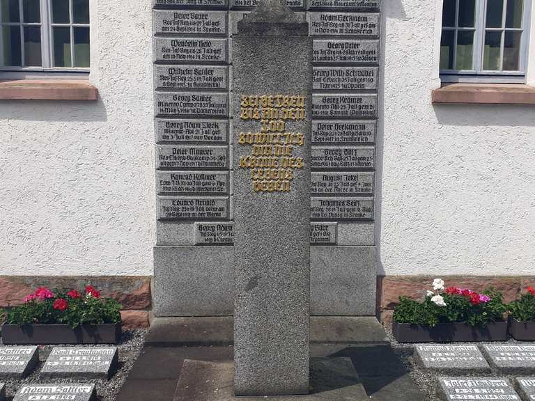
[[[228,68],[222,65],[155,65],[155,88],[217,89],[228,88]]]

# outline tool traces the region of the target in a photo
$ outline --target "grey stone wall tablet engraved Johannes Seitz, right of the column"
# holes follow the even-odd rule
[[[315,220],[373,219],[373,199],[311,198],[310,218]]]

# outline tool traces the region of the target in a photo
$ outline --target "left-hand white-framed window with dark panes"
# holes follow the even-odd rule
[[[0,0],[0,71],[87,73],[89,0]]]

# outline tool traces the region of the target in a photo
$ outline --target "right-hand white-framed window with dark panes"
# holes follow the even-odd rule
[[[443,0],[442,81],[523,83],[531,0]]]

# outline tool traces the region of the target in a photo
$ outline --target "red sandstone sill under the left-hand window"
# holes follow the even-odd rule
[[[87,79],[0,79],[0,100],[97,100]]]

